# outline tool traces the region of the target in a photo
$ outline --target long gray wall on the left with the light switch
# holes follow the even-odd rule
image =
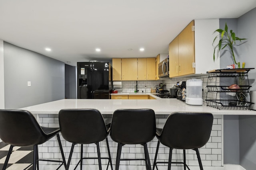
[[[64,99],[64,69],[63,62],[4,42],[5,108]]]

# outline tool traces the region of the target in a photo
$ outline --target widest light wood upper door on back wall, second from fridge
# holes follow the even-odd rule
[[[137,80],[137,59],[122,59],[122,80]]]

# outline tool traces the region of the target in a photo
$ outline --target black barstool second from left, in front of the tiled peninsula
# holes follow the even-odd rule
[[[67,170],[70,166],[72,153],[76,144],[81,144],[81,158],[78,161],[78,164],[80,163],[81,170],[83,159],[98,159],[100,170],[102,170],[101,159],[108,159],[108,166],[110,164],[111,169],[113,170],[107,138],[110,131],[110,125],[107,125],[106,127],[100,111],[97,109],[62,109],[59,112],[59,123],[62,137],[72,143],[68,164],[66,167]],[[100,157],[99,142],[103,141],[104,139],[106,139],[107,143],[108,158]],[[83,144],[90,143],[96,144],[98,158],[83,158]],[[76,164],[76,167],[78,164]]]

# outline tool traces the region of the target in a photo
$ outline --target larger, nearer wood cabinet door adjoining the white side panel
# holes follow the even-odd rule
[[[194,26],[194,21],[190,22],[178,35],[179,76],[195,73],[195,68],[192,68],[192,63],[195,62],[195,43],[192,26]]]

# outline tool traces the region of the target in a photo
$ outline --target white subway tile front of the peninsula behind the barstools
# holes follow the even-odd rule
[[[170,80],[168,80],[170,81]],[[176,80],[174,80],[176,81]],[[159,84],[159,81],[157,81]],[[156,81],[152,81],[152,84],[156,83]],[[176,83],[176,82],[175,82]],[[135,82],[136,84],[136,82]],[[134,86],[134,85],[132,85]],[[150,86],[150,84],[146,84],[146,86]],[[172,83],[168,83],[168,86],[173,86]],[[132,89],[133,90],[133,89]],[[109,115],[106,115],[109,117]],[[156,122],[157,126],[163,127],[166,118],[168,115],[156,115]],[[42,121],[52,122],[52,123],[42,123],[48,127],[54,125],[58,125],[58,115],[51,115],[51,121],[49,117],[43,115],[43,117],[39,117]],[[62,141],[62,147],[65,152],[66,159],[69,156],[69,152],[72,146],[72,143],[67,142],[63,139],[62,135],[60,134],[60,139]],[[117,143],[112,141],[110,137],[108,137],[109,145],[110,145],[110,152],[112,156],[112,162],[115,164],[116,162],[116,152],[117,152]],[[154,156],[156,152],[158,139],[155,137],[151,142],[148,143],[148,152],[150,156],[151,164],[153,164]],[[60,149],[58,145],[58,141],[56,137],[52,138],[47,143],[40,145],[39,147],[39,156],[40,158],[55,158],[57,160],[61,159]],[[72,164],[77,164],[80,158],[80,144],[75,145],[74,152],[72,154]],[[100,142],[100,151],[101,156],[108,157],[107,149],[106,149],[106,141]],[[97,149],[95,144],[86,144],[84,145],[84,157],[94,156],[97,157]],[[212,127],[212,132],[208,143],[199,149],[200,157],[204,166],[221,166],[222,161],[222,117],[221,115],[214,115],[214,125]],[[160,144],[160,148],[158,150],[158,161],[168,161],[169,157],[169,148]],[[144,148],[142,145],[124,145],[122,147],[122,154],[121,158],[144,158]],[[183,161],[183,150],[181,149],[173,149],[173,160]],[[198,166],[198,160],[196,156],[196,152],[192,149],[186,150],[186,159],[189,166]],[[86,159],[83,160],[84,164],[98,164],[98,160],[93,159]],[[102,160],[103,164],[106,164],[106,160]],[[120,164],[122,165],[144,165],[144,161],[121,161]],[[167,165],[167,164],[166,164]],[[73,165],[72,165],[73,166]],[[173,166],[176,166],[175,164]]]

